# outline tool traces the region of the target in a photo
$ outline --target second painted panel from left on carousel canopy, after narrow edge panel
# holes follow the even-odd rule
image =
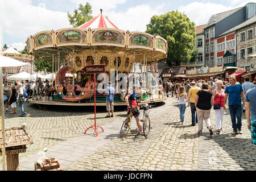
[[[51,31],[41,32],[33,37],[35,50],[45,47],[53,47],[53,38]]]

